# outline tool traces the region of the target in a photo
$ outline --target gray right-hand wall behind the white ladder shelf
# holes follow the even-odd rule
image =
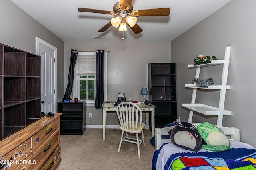
[[[240,140],[256,147],[254,125],[256,84],[256,1],[233,0],[190,30],[172,41],[172,61],[177,63],[178,72],[178,115],[181,121],[188,120],[189,111],[182,108],[182,103],[190,103],[192,89],[190,84],[196,69],[188,69],[193,58],[200,53],[216,55],[224,59],[225,47],[230,45],[231,55],[228,70],[228,85],[224,109],[232,115],[224,116],[223,125],[240,129]],[[214,79],[221,84],[222,66],[201,68],[199,78]],[[218,107],[219,91],[198,92],[196,102]],[[193,122],[216,124],[216,117],[194,115]]]

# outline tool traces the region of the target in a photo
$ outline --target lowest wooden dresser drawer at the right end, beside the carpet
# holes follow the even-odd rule
[[[55,170],[60,163],[60,147],[57,148],[40,170]],[[72,168],[71,168],[72,169]]]

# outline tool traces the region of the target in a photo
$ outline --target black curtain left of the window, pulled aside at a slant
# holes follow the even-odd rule
[[[77,50],[71,50],[71,55],[70,55],[70,63],[69,63],[69,72],[68,72],[68,85],[66,88],[66,92],[64,94],[64,97],[62,101],[64,100],[72,100],[70,98],[72,88],[73,88],[73,81],[74,81],[74,68],[76,66],[76,59],[77,59]]]

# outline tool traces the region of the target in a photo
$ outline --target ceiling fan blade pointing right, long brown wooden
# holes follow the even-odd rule
[[[138,11],[139,12],[135,12],[134,15],[138,15],[139,17],[145,17],[145,16],[165,17],[165,16],[169,16],[171,8],[155,8],[155,9],[138,10]]]

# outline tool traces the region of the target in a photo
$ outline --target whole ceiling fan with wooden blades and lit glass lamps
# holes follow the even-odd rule
[[[112,18],[109,23],[104,25],[98,32],[104,32],[109,27],[113,26],[118,28],[119,31],[127,31],[126,25],[132,29],[135,34],[142,32],[143,30],[140,26],[136,23],[136,17],[142,16],[169,16],[170,8],[154,8],[148,10],[134,10],[132,6],[133,0],[120,0],[120,2],[116,2],[113,6],[112,11],[106,10],[97,10],[97,9],[90,9],[90,8],[78,8],[79,12],[92,12],[92,13],[99,13],[99,14],[108,14],[114,15],[116,17]]]

